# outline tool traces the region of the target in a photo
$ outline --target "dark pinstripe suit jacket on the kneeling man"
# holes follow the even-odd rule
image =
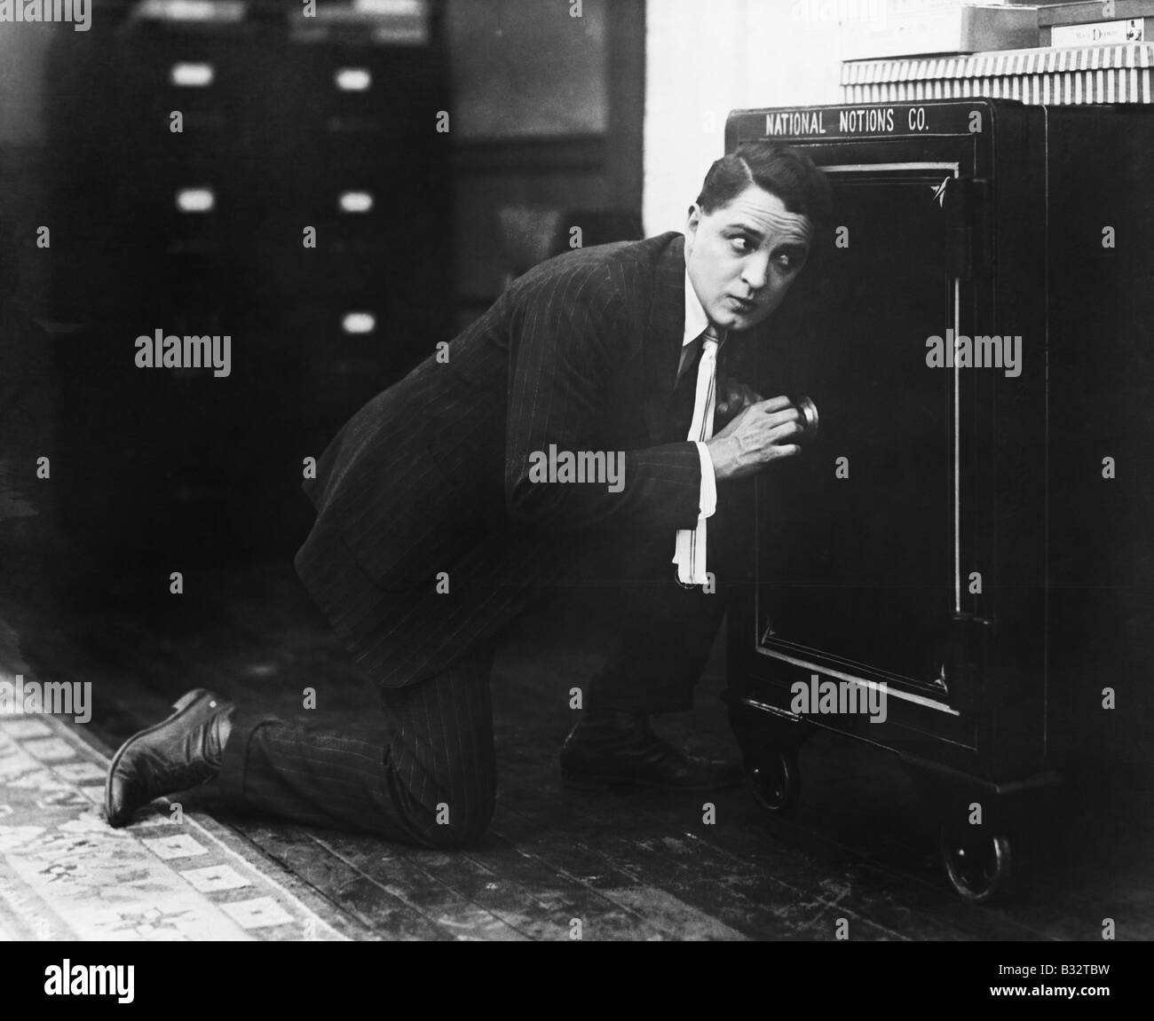
[[[578,534],[664,533],[672,558],[699,513],[697,450],[670,415],[683,330],[681,234],[578,249],[345,425],[305,485],[317,518],[295,564],[375,683],[425,680],[492,637]],[[531,481],[550,444],[623,451],[623,489]]]

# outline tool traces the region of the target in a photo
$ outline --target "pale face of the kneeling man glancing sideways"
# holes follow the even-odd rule
[[[750,185],[728,205],[689,208],[685,266],[710,322],[748,330],[781,303],[809,256],[809,217]]]

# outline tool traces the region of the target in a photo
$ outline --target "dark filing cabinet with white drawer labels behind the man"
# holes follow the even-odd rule
[[[321,2],[302,30],[297,5],[110,3],[54,39],[65,525],[118,569],[290,551],[302,459],[451,336],[428,7],[398,40],[372,5]],[[231,336],[230,375],[137,368],[157,329]]]

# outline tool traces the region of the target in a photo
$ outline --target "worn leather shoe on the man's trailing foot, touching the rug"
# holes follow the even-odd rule
[[[197,688],[183,696],[166,720],[128,738],[113,756],[104,787],[104,811],[112,826],[127,826],[142,805],[211,780],[232,703]]]

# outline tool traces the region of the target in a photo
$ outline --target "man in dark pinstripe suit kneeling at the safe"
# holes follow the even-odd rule
[[[384,737],[308,731],[197,690],[112,761],[113,826],[219,774],[248,810],[432,847],[480,835],[496,784],[489,671],[500,631],[563,575],[577,540],[634,550],[650,584],[562,750],[574,784],[709,790],[734,764],[649,726],[691,704],[724,602],[712,535],[735,480],[796,455],[800,412],[727,383],[759,343],[829,212],[808,157],[747,143],[719,159],[685,234],[534,268],[449,345],[369,401],[307,485],[297,569],[379,689]],[[736,345],[727,350],[726,345]],[[733,414],[713,433],[714,412]],[[616,485],[542,473],[546,452],[617,459]],[[714,511],[719,513],[714,518]],[[713,530],[714,532],[717,528]]]

